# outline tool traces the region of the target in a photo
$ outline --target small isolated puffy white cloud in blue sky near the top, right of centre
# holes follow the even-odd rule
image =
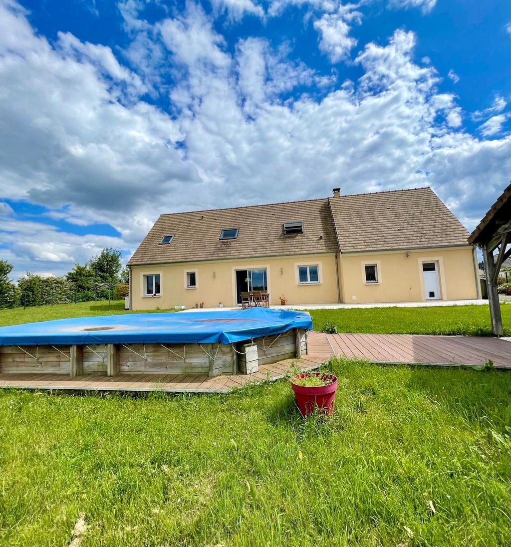
[[[321,36],[320,49],[333,63],[347,59],[357,45],[357,40],[349,36],[350,24],[361,23],[362,14],[356,11],[357,7],[355,4],[340,5],[335,13],[324,14],[314,21],[314,28]]]

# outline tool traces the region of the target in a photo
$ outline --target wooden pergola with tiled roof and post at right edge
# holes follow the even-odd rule
[[[477,245],[483,251],[493,335],[502,336],[497,278],[503,261],[511,257],[511,184],[493,203],[468,238],[468,242]]]

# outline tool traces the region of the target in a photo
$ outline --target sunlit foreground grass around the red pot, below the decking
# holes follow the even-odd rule
[[[0,544],[510,545],[511,374],[337,361],[333,418],[228,395],[0,393]]]

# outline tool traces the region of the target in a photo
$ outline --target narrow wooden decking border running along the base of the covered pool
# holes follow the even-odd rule
[[[309,354],[300,359],[284,359],[259,366],[254,374],[209,377],[207,374],[68,374],[2,373],[0,388],[67,389],[72,391],[164,391],[190,393],[225,393],[233,388],[264,380],[277,380],[286,375],[292,365],[300,370],[312,370],[328,362],[333,352],[326,335],[309,333]]]

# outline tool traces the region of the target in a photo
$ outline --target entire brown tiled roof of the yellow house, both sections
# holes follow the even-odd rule
[[[283,235],[301,220],[304,233]],[[334,222],[335,220],[335,222]],[[235,240],[220,231],[239,228]],[[159,245],[173,235],[169,245]],[[468,232],[429,188],[162,214],[128,264],[467,245]]]

